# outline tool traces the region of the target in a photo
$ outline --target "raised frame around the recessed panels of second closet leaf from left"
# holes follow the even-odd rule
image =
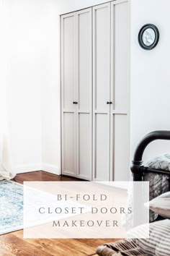
[[[90,61],[89,61],[89,70],[90,74],[89,76],[91,77],[90,79],[90,85],[89,87],[91,88],[91,93],[90,93],[90,102],[89,102],[89,108],[81,108],[79,104],[79,15],[81,14],[86,14],[89,12],[89,31],[90,31],[90,41],[91,41],[91,48],[89,49],[90,51]],[[85,71],[86,72],[86,71]],[[92,13],[91,13],[91,8],[88,9],[83,9],[79,12],[76,12],[76,101],[78,104],[76,105],[76,176],[80,179],[87,179],[91,180],[92,179]],[[91,147],[90,147],[90,152],[89,152],[89,161],[91,162],[91,171],[90,174],[80,174],[80,155],[79,155],[79,118],[80,116],[83,116],[84,114],[89,115],[90,119],[90,138],[89,140],[91,141]],[[89,172],[89,171],[87,171]]]

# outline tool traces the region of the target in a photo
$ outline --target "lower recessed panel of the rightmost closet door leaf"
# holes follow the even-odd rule
[[[117,114],[114,122],[114,180],[128,181],[130,176],[128,115]]]

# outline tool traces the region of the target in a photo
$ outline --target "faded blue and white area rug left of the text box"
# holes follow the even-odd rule
[[[23,227],[23,186],[16,182],[0,182],[0,234]]]

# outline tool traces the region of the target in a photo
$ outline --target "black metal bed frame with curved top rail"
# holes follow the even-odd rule
[[[146,172],[152,172],[155,174],[166,174],[170,176],[170,171],[164,171],[161,169],[154,169],[143,166],[143,152],[145,151],[148,144],[150,144],[154,140],[170,140],[170,131],[150,132],[148,133],[148,135],[143,137],[143,140],[140,141],[137,148],[135,149],[131,165],[131,171],[133,173],[134,182],[141,182],[143,180],[143,174],[145,174]]]

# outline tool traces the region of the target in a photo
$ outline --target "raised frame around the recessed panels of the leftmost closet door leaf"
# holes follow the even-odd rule
[[[63,48],[63,33],[64,33],[64,25],[63,25],[63,20],[66,19],[67,17],[74,17],[74,53],[76,54],[76,12],[71,12],[69,14],[64,14],[61,16],[61,170],[62,174],[68,175],[68,176],[75,176],[76,175],[76,141],[73,145],[74,148],[74,166],[75,170],[74,173],[65,170],[65,154],[64,154],[64,132],[63,132],[63,127],[64,127],[64,114],[74,114],[74,138],[76,140],[76,106],[73,105],[73,108],[64,108],[63,103],[64,103],[64,74],[63,74],[63,65],[64,65],[64,48]],[[74,64],[73,64],[73,69],[76,70],[76,58],[74,59]],[[76,72],[74,72],[74,98],[76,101]]]

